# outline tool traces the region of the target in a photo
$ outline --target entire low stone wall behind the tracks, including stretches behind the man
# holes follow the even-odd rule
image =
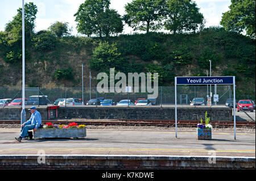
[[[21,108],[2,108],[0,109],[0,120],[20,120]],[[39,107],[42,120],[48,120],[47,107]],[[53,110],[51,110],[53,111]],[[200,120],[204,119],[207,111],[210,120],[232,121],[232,108],[228,107],[178,107],[177,120]],[[156,120],[175,120],[174,107],[117,107],[117,106],[98,106],[98,107],[60,107],[58,109],[59,119],[156,119]],[[55,112],[52,112],[55,115]],[[26,120],[31,114],[26,108]],[[52,116],[51,116],[52,117]],[[53,116],[55,117],[55,116]]]

